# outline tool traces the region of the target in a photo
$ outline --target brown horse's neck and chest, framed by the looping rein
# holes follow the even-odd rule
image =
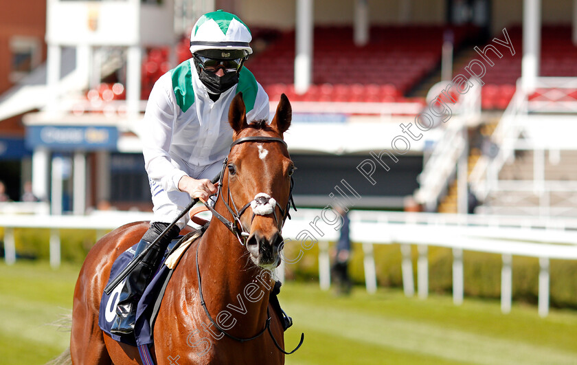
[[[216,219],[210,223],[200,245],[203,298],[211,316],[216,320],[223,311],[231,313],[237,322],[230,332],[240,337],[260,331],[267,320],[269,272],[255,267],[245,246]],[[232,321],[223,322],[226,326]]]

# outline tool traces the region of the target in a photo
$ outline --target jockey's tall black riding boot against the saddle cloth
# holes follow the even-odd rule
[[[150,241],[155,241],[156,237],[166,227],[168,227],[168,223],[152,223],[136,247],[134,256],[136,257],[143,252],[150,245]],[[179,229],[175,225],[172,230],[148,250],[142,261],[126,276],[124,287],[120,291],[120,300],[116,307],[116,319],[112,325],[111,333],[126,335],[134,331],[138,301],[142,293],[144,293],[146,285],[152,280],[152,276],[155,274],[166,247],[178,234]]]

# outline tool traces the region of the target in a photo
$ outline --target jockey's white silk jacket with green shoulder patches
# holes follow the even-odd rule
[[[246,67],[240,70],[238,84],[216,102],[199,80],[192,58],[161,76],[148,98],[140,129],[148,177],[167,192],[179,190],[184,175],[223,161],[232,142],[229,106],[238,92],[249,122],[269,120],[269,96]]]

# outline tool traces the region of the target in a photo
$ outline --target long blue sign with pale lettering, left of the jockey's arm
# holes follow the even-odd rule
[[[45,146],[53,150],[115,151],[118,130],[114,126],[29,126],[26,145]]]

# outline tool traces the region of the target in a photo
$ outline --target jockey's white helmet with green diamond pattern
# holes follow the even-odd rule
[[[243,49],[252,53],[251,31],[238,16],[216,10],[200,17],[190,34],[190,52],[203,49]]]

